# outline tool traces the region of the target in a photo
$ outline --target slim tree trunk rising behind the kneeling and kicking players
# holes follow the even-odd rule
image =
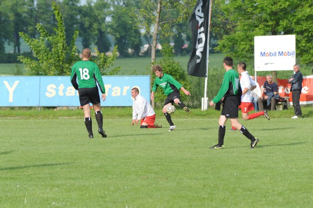
[[[161,4],[162,4],[162,0],[157,0],[156,21],[155,21],[155,28],[153,31],[153,38],[152,38],[151,64],[154,64],[156,62],[156,41],[157,41],[158,28],[160,25]],[[150,83],[154,82],[152,77],[153,77],[153,72],[151,70]],[[150,86],[150,88],[152,88],[152,85]],[[153,108],[155,108],[155,102],[154,101],[151,101],[151,105]]]

